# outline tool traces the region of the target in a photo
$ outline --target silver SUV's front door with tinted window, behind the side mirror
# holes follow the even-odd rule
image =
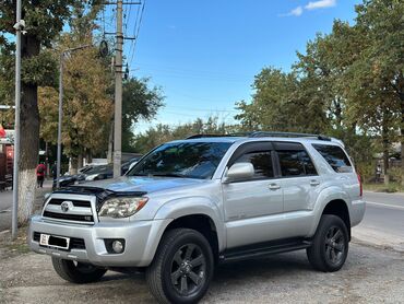
[[[249,142],[239,147],[227,167],[249,162],[254,176],[248,180],[223,184],[227,247],[265,242],[278,234],[271,221],[283,212],[283,190],[274,174],[271,142]]]

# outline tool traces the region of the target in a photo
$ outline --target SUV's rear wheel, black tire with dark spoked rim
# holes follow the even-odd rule
[[[324,272],[340,270],[348,255],[348,230],[341,218],[323,214],[313,243],[306,249],[311,266]]]

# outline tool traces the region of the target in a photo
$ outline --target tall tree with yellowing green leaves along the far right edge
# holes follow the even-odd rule
[[[368,42],[355,67],[356,86],[367,89],[368,100],[379,96],[381,103],[377,105],[378,113],[373,117],[388,118],[382,126],[383,140],[388,141],[389,133],[400,130],[401,179],[404,185],[404,2],[365,0],[356,11],[356,27],[366,34]],[[367,106],[361,108],[367,109]],[[393,135],[392,138],[396,137]]]

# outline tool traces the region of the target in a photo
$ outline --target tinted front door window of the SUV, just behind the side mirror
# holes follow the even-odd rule
[[[251,163],[254,166],[252,179],[265,179],[274,176],[270,151],[246,153],[238,157],[235,163]]]

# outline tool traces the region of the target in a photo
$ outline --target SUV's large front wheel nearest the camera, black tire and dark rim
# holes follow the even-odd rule
[[[207,239],[194,230],[174,229],[163,235],[146,269],[146,282],[159,303],[197,303],[206,293],[213,271]]]

